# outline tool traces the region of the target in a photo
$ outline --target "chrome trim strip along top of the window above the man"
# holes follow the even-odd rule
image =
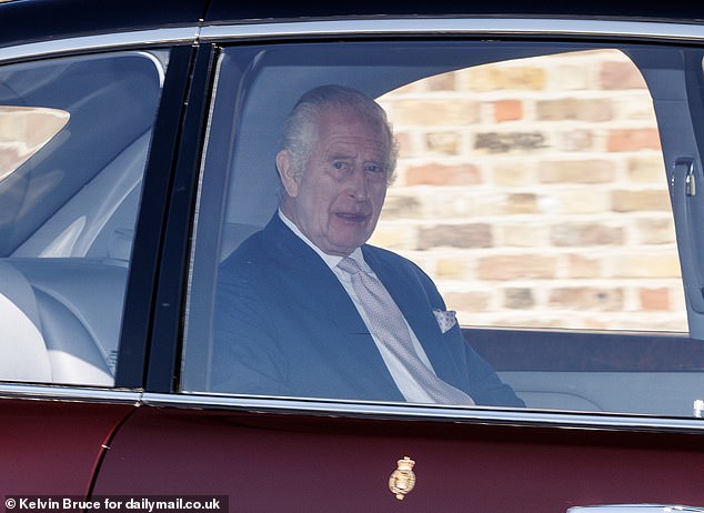
[[[671,21],[556,18],[374,18],[271,23],[210,24],[203,42],[291,36],[485,34],[638,37],[704,41],[704,26]]]

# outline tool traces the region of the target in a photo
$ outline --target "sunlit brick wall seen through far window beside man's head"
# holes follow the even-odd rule
[[[470,68],[380,103],[400,160],[372,242],[463,324],[686,331],[652,102],[621,52]]]

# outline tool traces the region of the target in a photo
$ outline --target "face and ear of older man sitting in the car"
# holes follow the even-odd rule
[[[386,195],[389,143],[382,127],[328,110],[302,174],[279,153],[283,212],[323,252],[346,256],[372,235]]]

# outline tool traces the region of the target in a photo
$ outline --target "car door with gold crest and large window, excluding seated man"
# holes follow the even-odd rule
[[[517,18],[204,27],[143,405],[111,439],[94,496],[232,511],[704,504],[698,30]],[[399,140],[371,242],[432,278],[525,408],[340,396],[324,382],[305,396],[213,386],[221,262],[276,215],[286,112],[328,83],[375,98]],[[315,303],[320,291],[308,293]],[[260,303],[241,306],[262,331],[282,325]],[[251,354],[232,362],[234,382],[269,358]]]

